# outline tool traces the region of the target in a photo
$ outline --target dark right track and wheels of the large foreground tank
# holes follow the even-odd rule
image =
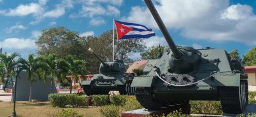
[[[248,81],[241,80],[239,87],[220,87],[219,93],[224,113],[242,113],[248,104]]]

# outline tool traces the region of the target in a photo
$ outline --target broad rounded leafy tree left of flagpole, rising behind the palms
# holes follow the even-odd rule
[[[76,31],[61,27],[52,27],[44,29],[42,35],[38,38],[37,53],[41,56],[57,54],[60,58],[65,58],[71,54],[75,58],[84,58],[83,42],[84,38],[79,37]]]

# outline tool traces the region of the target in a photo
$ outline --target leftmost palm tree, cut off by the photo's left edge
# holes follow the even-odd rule
[[[6,54],[0,54],[0,59],[1,59],[1,82],[5,84],[4,82],[4,77],[7,76],[7,80],[12,77],[14,73],[14,66],[17,64],[15,61],[15,58],[19,57],[20,54],[18,52],[13,52],[10,56]],[[13,86],[13,79],[12,81],[12,86]]]

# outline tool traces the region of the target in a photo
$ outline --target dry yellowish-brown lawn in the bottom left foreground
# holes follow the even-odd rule
[[[52,107],[49,102],[28,102],[28,101],[17,101],[16,102],[16,114],[19,117],[44,117],[51,116],[52,113],[66,108]],[[100,107],[84,107],[74,108],[79,114],[83,116],[102,116],[100,114]],[[0,117],[10,116],[13,112],[13,102],[0,102]]]

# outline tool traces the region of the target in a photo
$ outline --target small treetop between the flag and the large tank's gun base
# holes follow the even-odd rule
[[[159,52],[163,53],[164,51],[164,46],[161,46],[161,51],[159,51],[159,47],[157,46],[152,46],[148,47],[148,49],[145,52],[142,52],[140,54],[141,59],[158,59],[158,54]]]

